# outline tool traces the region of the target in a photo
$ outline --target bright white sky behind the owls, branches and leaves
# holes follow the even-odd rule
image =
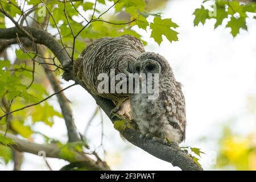
[[[248,32],[241,31],[235,39],[224,26],[214,30],[214,20],[207,20],[205,26],[193,27],[193,11],[200,7],[200,0],[175,0],[168,3],[163,12],[165,18],[172,18],[180,27],[177,29],[179,42],[164,42],[158,46],[150,38],[150,34],[139,31],[147,40],[146,51],[158,52],[169,61],[176,79],[184,87],[183,92],[187,104],[187,139],[182,146],[202,148],[208,156],[203,156],[201,163],[205,169],[212,169],[212,156],[217,146],[214,139],[220,135],[221,126],[230,118],[236,118],[237,125],[230,129],[240,133],[255,130],[255,116],[246,112],[246,100],[249,94],[255,95],[256,78],[256,24],[247,24]],[[158,11],[157,11],[158,12]],[[71,82],[64,84],[70,85]],[[92,97],[80,86],[65,91],[72,101],[75,121],[81,133],[91,117],[96,104]],[[56,107],[59,107],[56,105]],[[65,141],[64,122],[56,119],[53,128],[38,124],[37,130],[51,137]],[[88,133],[91,148],[100,145],[100,117],[97,117]],[[147,154],[128,142],[123,142],[112,123],[104,117],[104,146],[107,159],[112,169],[121,170],[170,170],[178,169],[170,163]],[[205,140],[200,138],[206,137]],[[40,142],[38,138],[38,142]],[[48,159],[53,169],[60,169],[63,160]],[[1,169],[11,169],[0,166]],[[47,169],[41,158],[26,154],[23,170]]]

